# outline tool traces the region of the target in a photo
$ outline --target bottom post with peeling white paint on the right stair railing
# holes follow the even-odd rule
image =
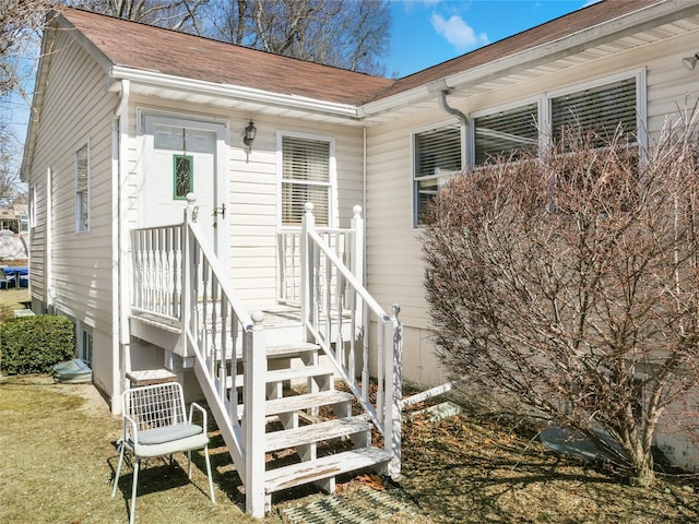
[[[391,321],[386,330],[386,409],[383,441],[391,453],[388,474],[393,479],[401,475],[401,432],[403,409],[403,323],[398,318],[401,308],[391,306]],[[393,329],[390,329],[392,324]]]

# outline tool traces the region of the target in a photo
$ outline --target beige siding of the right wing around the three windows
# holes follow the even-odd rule
[[[652,138],[662,128],[668,112],[699,97],[699,69],[688,71],[682,58],[697,52],[699,34],[675,37],[618,55],[597,59],[562,72],[473,96],[450,104],[469,115],[517,100],[528,100],[546,92],[604,79],[625,71],[643,69],[647,79],[647,122]],[[399,302],[405,326],[404,376],[424,385],[443,379],[435,362],[429,342],[428,306],[424,299],[424,265],[420,257],[420,229],[413,228],[412,132],[448,121],[441,111],[369,128],[368,132],[368,284],[379,303]]]

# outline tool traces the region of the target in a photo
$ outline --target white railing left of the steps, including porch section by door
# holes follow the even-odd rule
[[[196,223],[193,195],[181,225],[134,229],[132,310],[181,325],[194,372],[246,487],[246,510],[264,515],[266,356],[262,314],[249,315]],[[235,386],[242,357],[241,400]]]

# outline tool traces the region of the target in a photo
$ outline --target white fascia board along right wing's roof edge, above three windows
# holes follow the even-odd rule
[[[429,84],[420,85],[388,98],[370,102],[358,108],[359,115],[369,117],[411,106],[433,98],[435,91],[440,88],[452,91],[487,82],[525,68],[580,52],[591,45],[599,45],[614,38],[628,36],[635,32],[680,20],[698,12],[699,0],[659,1],[659,3],[585,27],[556,40],[509,55],[461,73],[437,79]]]

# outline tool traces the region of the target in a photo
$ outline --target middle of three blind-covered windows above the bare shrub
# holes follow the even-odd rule
[[[518,159],[538,147],[538,104],[497,111],[473,119],[474,164]]]

